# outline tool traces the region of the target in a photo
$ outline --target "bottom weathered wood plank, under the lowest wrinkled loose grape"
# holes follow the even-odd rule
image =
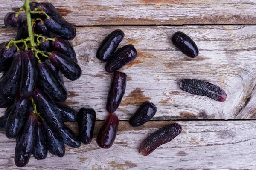
[[[66,147],[63,158],[48,155],[37,161],[31,158],[26,170],[255,170],[256,124],[254,121],[178,121],[182,133],[148,156],[138,153],[140,143],[151,133],[173,123],[151,121],[132,128],[121,121],[113,146],[100,149],[96,134],[103,122],[97,122],[93,142],[78,149]],[[69,126],[77,132],[75,124]],[[5,170],[14,165],[15,140],[0,134],[0,164]]]

